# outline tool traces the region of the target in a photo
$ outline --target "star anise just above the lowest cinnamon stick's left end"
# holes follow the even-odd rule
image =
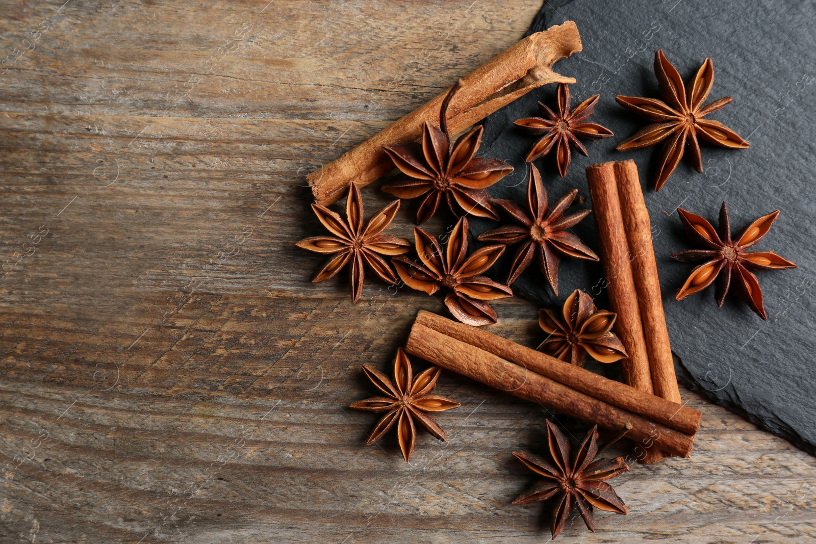
[[[445,305],[453,316],[468,325],[492,325],[496,312],[487,301],[512,297],[507,285],[485,276],[504,252],[503,245],[487,245],[468,257],[468,219],[459,219],[450,232],[445,252],[428,232],[414,228],[416,253],[422,264],[406,257],[391,259],[402,281],[411,289],[434,294],[441,287],[450,290]]]

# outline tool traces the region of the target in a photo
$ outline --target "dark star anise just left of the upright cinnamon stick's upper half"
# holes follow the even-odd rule
[[[516,221],[516,225],[494,228],[479,236],[480,241],[494,241],[499,244],[512,245],[521,242],[510,265],[508,285],[516,281],[535,258],[539,269],[550,285],[552,292],[558,296],[558,263],[559,255],[576,259],[598,260],[579,237],[568,228],[574,227],[581,219],[589,215],[590,210],[564,215],[578,195],[578,189],[566,193],[558,199],[555,206],[548,209],[547,191],[541,184],[539,170],[530,164],[530,179],[527,182],[527,209],[521,210],[515,202],[494,199],[494,204],[506,211]]]

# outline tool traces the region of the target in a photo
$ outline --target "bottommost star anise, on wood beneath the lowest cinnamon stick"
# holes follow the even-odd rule
[[[547,420],[547,439],[550,450],[547,458],[527,451],[512,453],[527,468],[544,477],[544,480],[534,484],[526,493],[521,493],[512,503],[526,504],[527,502],[554,499],[555,508],[552,511],[552,524],[550,525],[553,538],[564,529],[573,508],[578,508],[584,523],[592,532],[595,531],[592,506],[623,515],[627,513],[623,500],[618,493],[614,492],[610,484],[605,483],[605,480],[623,474],[629,470],[629,466],[623,462],[621,457],[597,460],[595,458],[606,446],[626,434],[628,428],[621,431],[601,449],[598,449],[597,446],[597,428],[597,425],[592,427],[578,451],[571,455],[570,442],[566,440],[558,427]]]

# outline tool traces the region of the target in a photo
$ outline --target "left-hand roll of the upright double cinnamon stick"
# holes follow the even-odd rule
[[[629,245],[623,230],[618,188],[611,162],[587,167],[589,194],[592,197],[592,215],[595,216],[601,263],[607,281],[610,309],[617,313],[614,328],[626,347],[628,358],[622,361],[626,382],[646,393],[653,393],[652,378],[647,357],[641,308],[637,302]]]

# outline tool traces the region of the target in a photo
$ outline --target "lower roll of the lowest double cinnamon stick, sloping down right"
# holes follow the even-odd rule
[[[663,451],[679,457],[690,456],[694,436],[609,405],[419,323],[411,328],[406,352],[562,414],[597,423],[605,429],[617,431],[631,423],[628,436],[632,439],[654,442]]]

